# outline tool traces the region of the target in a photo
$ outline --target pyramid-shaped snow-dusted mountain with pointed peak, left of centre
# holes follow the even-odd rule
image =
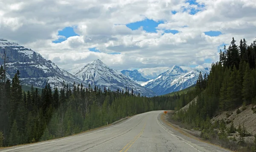
[[[131,88],[133,88],[134,93],[136,94],[140,93],[140,95],[149,97],[156,95],[150,89],[140,86],[121,72],[111,69],[101,60],[94,60],[85,66],[77,67],[69,72],[78,77],[83,83],[90,83],[91,86],[96,85],[102,89],[104,87],[109,87],[111,90],[125,90],[125,87],[127,87],[130,93]]]

